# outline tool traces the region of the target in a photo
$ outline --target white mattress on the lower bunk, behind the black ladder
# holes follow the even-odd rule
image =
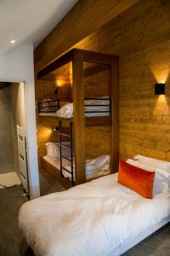
[[[48,163],[50,163],[52,166],[54,166],[54,167],[56,167],[57,169],[60,170],[60,158],[59,157],[52,158],[52,157],[49,157],[48,155],[44,155],[42,158],[44,160],[48,161]],[[71,162],[68,161],[68,160],[65,160],[65,158],[62,159],[62,166],[63,167],[68,166],[70,163]],[[71,174],[70,173],[69,173],[69,176],[68,176],[68,172],[63,170],[63,174],[64,174],[64,177],[70,177],[70,179],[71,179]],[[106,171],[99,170],[98,172],[86,175],[86,178],[91,179],[91,178],[94,178],[94,177],[100,177],[100,176],[104,176],[104,175],[108,175],[108,174],[110,174],[110,170],[106,170]]]

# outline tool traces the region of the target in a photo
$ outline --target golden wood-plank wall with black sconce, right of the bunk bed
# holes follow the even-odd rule
[[[75,47],[120,56],[121,158],[170,160],[170,1],[140,0]]]

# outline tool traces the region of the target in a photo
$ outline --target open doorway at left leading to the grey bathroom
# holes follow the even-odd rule
[[[20,148],[26,154],[26,148],[19,143],[18,129],[26,130],[25,84],[0,82],[0,189],[23,184]],[[24,138],[25,139],[25,138]],[[26,164],[27,166],[27,164]],[[28,174],[26,168],[26,183]],[[26,191],[28,192],[28,190]]]

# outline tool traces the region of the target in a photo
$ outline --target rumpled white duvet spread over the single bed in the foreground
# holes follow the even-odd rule
[[[169,194],[144,199],[109,175],[26,202],[19,225],[37,256],[114,256],[127,238],[168,216]]]

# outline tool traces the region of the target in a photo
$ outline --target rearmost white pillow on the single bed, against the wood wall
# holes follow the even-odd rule
[[[139,162],[149,166],[155,166],[156,168],[159,168],[170,173],[170,162],[157,160],[155,158],[150,158],[141,154],[135,155],[133,159],[138,160]]]

